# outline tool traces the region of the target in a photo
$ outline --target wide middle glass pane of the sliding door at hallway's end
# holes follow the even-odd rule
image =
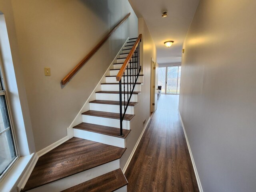
[[[178,66],[167,67],[167,94],[177,94]]]

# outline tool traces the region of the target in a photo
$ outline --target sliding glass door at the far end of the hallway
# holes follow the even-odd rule
[[[163,94],[180,94],[181,66],[159,67],[158,86]]]

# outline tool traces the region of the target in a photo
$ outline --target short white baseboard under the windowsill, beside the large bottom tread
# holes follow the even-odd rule
[[[22,178],[20,179],[20,182],[17,185],[18,192],[20,192],[22,189],[24,189],[24,187],[28,181],[28,178],[30,177],[34,167],[36,166],[37,161],[38,161],[38,154],[35,153],[34,156],[32,157],[31,162],[28,165],[28,168],[22,175]]]

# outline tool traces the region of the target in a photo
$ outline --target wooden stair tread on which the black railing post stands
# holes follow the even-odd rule
[[[119,137],[119,138],[126,138],[126,136],[130,133],[131,130],[123,129],[124,136],[119,136],[120,129],[115,127],[103,126],[103,125],[96,125],[91,123],[80,123],[73,127],[74,129],[80,129],[95,133],[100,133],[104,135]]]

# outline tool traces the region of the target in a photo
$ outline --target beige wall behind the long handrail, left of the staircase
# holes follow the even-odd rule
[[[12,8],[28,97],[26,116],[39,151],[67,135],[66,128],[125,40],[137,36],[138,19],[128,0],[12,0]],[[108,42],[61,86],[61,79],[129,12]],[[44,67],[51,68],[51,76],[44,76]]]

